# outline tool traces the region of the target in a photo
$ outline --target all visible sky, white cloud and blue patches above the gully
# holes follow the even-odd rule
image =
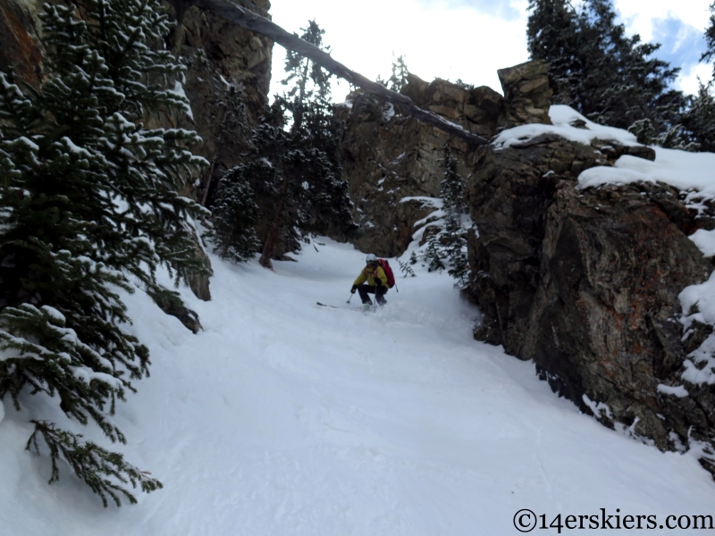
[[[712,67],[699,63],[709,24],[711,0],[615,0],[628,34],[662,46],[656,55],[682,67],[676,88],[697,90],[697,77],[711,79]],[[300,33],[315,18],[325,29],[332,57],[374,80],[388,78],[395,56],[423,80],[462,80],[501,93],[497,70],[528,60],[527,0],[271,0],[273,21]],[[281,92],[285,53],[273,54],[271,93]],[[341,101],[349,93],[333,88]]]

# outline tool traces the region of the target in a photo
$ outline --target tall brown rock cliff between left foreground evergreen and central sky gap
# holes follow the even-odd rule
[[[268,0],[238,4],[263,16],[270,7]],[[182,86],[191,103],[190,115],[167,119],[196,130],[202,144],[195,151],[211,163],[198,191],[189,185],[187,192],[202,201],[248,149],[250,127],[268,103],[273,42],[192,6],[167,46],[188,68]]]

